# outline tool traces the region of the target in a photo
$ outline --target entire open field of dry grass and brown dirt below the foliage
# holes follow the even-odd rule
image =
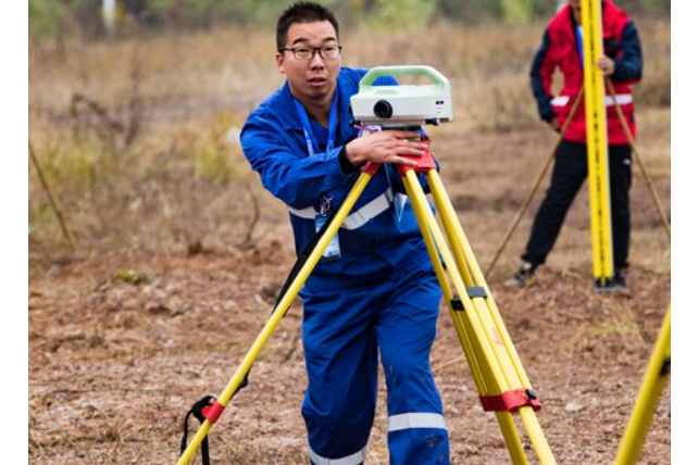
[[[671,24],[637,23],[637,148],[671,217]],[[428,64],[449,77],[456,122],[428,130],[483,268],[557,138],[527,84],[543,27],[342,35],[345,65]],[[295,260],[291,231],[236,129],[283,84],[273,48],[272,30],[216,28],[30,49],[29,144],[73,247],[29,161],[29,463],[175,463],[185,413],[221,392],[266,322]],[[591,292],[584,191],[536,286],[502,286],[533,209],[489,279],[561,464],[612,462],[670,301],[671,248],[637,168],[632,202],[632,298]],[[211,430],[214,464],[308,463],[300,314],[282,321]],[[446,309],[433,366],[452,463],[509,463]],[[382,390],[366,464],[388,463],[385,431]],[[671,463],[671,381],[641,463]]]

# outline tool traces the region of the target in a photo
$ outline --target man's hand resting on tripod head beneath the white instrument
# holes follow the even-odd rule
[[[420,138],[420,133],[411,130],[381,130],[369,134],[347,143],[347,159],[354,166],[364,162],[416,166],[416,161],[411,156],[421,156],[428,148]]]

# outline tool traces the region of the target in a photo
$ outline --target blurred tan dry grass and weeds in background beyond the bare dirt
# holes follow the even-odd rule
[[[283,84],[273,61],[275,15],[263,16],[264,27],[242,25],[262,16],[250,16],[252,2],[232,2],[232,23],[201,28],[189,13],[195,3],[204,16],[214,4],[226,4],[140,2],[140,16],[123,13],[117,37],[89,39],[85,32],[100,24],[99,16],[78,18],[99,2],[29,2],[30,29],[43,34],[29,49],[29,143],[79,253],[244,247],[269,232],[266,221],[284,217],[281,204],[259,205],[266,193],[236,143],[249,112]],[[278,3],[254,2],[254,11],[276,11]],[[341,2],[341,10],[358,17],[390,11],[391,3]],[[435,66],[451,81],[459,123],[435,130],[463,141],[472,133],[538,127],[527,73],[546,20],[465,26],[444,18],[458,17],[458,5],[475,9],[476,3],[428,3],[433,14],[425,27],[376,29],[354,22],[342,30],[342,63]],[[500,10],[479,14],[502,15],[504,3],[491,2]],[[128,3],[120,4],[126,9]],[[551,14],[554,4],[548,10]],[[175,17],[188,26],[166,26]],[[638,108],[668,109],[670,21],[635,20],[646,60],[636,88]],[[128,27],[134,29],[126,34]],[[547,151],[547,144],[538,151]],[[70,242],[38,174],[29,160],[29,249],[34,257],[55,257],[70,250]]]

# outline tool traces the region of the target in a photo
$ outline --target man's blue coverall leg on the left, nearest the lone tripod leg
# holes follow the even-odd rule
[[[311,457],[361,458],[377,398],[377,343],[371,292],[313,292],[306,300],[303,348],[308,390],[301,409]],[[360,462],[357,462],[360,463]]]

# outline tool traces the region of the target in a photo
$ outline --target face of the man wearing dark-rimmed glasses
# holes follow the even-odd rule
[[[337,33],[328,21],[294,23],[288,28],[286,48],[338,46]],[[341,59],[323,59],[315,52],[312,60],[299,60],[289,50],[276,53],[276,65],[288,78],[291,95],[301,103],[332,100]]]

